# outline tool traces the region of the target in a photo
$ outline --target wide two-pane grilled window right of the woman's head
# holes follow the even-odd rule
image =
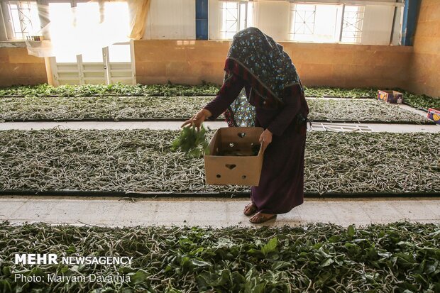
[[[363,6],[291,4],[290,40],[361,43]]]

